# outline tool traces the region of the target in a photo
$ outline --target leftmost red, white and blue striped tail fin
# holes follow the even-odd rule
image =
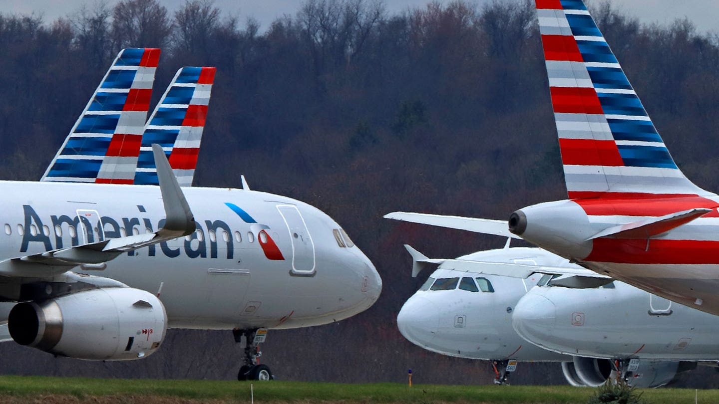
[[[132,184],[160,50],[121,50],[41,181]]]

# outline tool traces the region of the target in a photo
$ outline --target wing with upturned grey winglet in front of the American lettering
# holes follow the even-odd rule
[[[152,144],[152,152],[157,165],[162,203],[165,205],[166,219],[161,229],[153,233],[106,239],[3,260],[0,261],[0,275],[47,277],[67,272],[77,265],[99,265],[96,269],[103,269],[101,264],[114,260],[123,252],[193,234],[196,231],[194,216],[165,152],[158,144]]]

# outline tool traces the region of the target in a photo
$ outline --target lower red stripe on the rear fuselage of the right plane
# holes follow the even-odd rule
[[[584,261],[615,264],[719,264],[719,242],[697,240],[594,239]],[[649,248],[647,248],[649,247]]]

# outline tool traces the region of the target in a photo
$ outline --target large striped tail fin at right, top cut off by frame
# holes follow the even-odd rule
[[[569,198],[707,195],[677,167],[582,0],[536,0]]]

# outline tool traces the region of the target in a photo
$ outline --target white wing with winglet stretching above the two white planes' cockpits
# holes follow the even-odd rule
[[[513,262],[484,262],[473,260],[452,260],[443,258],[428,258],[413,247],[405,244],[405,248],[412,256],[412,277],[419,272],[433,265],[456,271],[472,272],[485,275],[498,275],[507,277],[519,277],[526,279],[533,273],[548,275],[559,275],[554,278],[552,285],[564,286],[565,288],[596,288],[597,286],[610,283],[611,277],[597,274],[592,270],[582,267],[548,267],[541,265],[515,264]]]

